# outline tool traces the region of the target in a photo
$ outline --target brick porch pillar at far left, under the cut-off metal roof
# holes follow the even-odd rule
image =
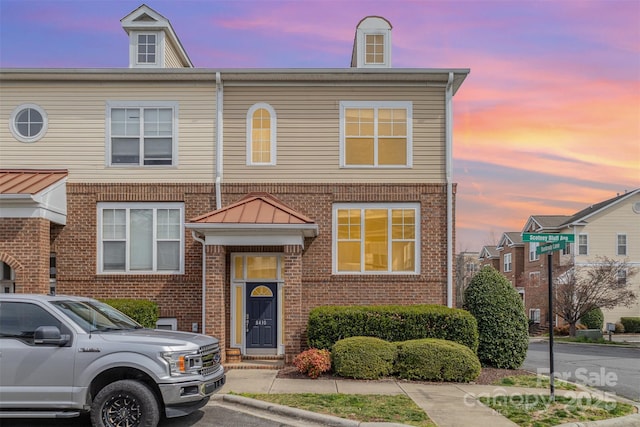
[[[50,227],[44,218],[0,220],[0,260],[15,270],[16,293],[49,293]]]

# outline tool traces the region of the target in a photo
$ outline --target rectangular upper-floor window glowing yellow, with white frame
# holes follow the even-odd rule
[[[411,167],[411,102],[340,103],[340,166]]]

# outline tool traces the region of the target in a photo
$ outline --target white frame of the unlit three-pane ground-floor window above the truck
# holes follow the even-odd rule
[[[102,253],[102,212],[105,209],[124,209],[126,210],[127,221],[126,225],[126,249],[125,249],[125,269],[124,271],[114,271],[103,269],[103,253]],[[152,269],[151,270],[130,270],[129,269],[129,244],[131,242],[130,237],[130,227],[129,227],[129,213],[131,209],[152,209],[153,210],[153,248],[152,248]],[[180,243],[179,243],[179,269],[178,270],[157,270],[157,254],[156,254],[156,243],[157,240],[157,211],[158,209],[178,209],[180,211]],[[126,202],[99,202],[96,206],[96,216],[97,216],[97,233],[96,233],[96,253],[97,253],[97,265],[96,270],[97,274],[105,274],[105,275],[138,275],[138,274],[154,274],[154,275],[168,275],[168,274],[184,274],[184,255],[185,255],[185,237],[184,237],[184,203],[182,202],[135,202],[135,203],[126,203]]]

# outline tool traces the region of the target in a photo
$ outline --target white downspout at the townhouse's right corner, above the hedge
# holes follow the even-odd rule
[[[447,180],[447,307],[453,308],[453,72],[445,89],[445,169]]]

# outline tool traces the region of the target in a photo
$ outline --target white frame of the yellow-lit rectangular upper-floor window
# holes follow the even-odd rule
[[[374,116],[374,159],[372,165],[347,165],[345,160],[345,114],[347,108],[371,108]],[[378,164],[378,109],[404,108],[407,111],[407,158],[404,165]],[[348,169],[410,169],[413,167],[413,102],[411,101],[340,101],[340,167]]]

